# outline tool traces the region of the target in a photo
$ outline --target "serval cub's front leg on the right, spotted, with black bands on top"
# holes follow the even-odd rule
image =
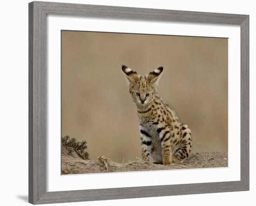
[[[172,153],[171,153],[171,144],[170,144],[170,127],[169,126],[162,126],[157,129],[159,134],[159,139],[161,142],[161,149],[162,149],[162,160],[163,165],[170,165],[172,160]]]

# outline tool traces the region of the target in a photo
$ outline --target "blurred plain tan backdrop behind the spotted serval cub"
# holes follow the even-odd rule
[[[189,125],[193,152],[228,151],[228,39],[62,31],[62,136],[91,159],[141,156],[138,117],[121,65],[164,67],[158,93]]]

